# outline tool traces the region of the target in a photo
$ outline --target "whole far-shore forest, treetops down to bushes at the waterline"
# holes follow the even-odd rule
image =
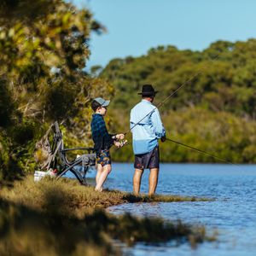
[[[167,137],[226,160],[251,163],[256,162],[255,55],[255,39],[218,41],[202,51],[159,46],[147,55],[114,59],[94,71],[113,84],[112,113],[119,131],[129,129],[130,110],[141,100],[137,92],[142,84],[154,84],[160,91],[157,105],[185,83],[160,108]],[[216,161],[174,143],[160,147],[163,161]],[[131,145],[114,156],[132,160]]]

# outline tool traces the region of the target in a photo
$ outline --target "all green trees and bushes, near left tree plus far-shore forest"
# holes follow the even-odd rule
[[[226,160],[256,162],[256,40],[218,41],[202,51],[174,46],[147,55],[114,59],[85,72],[92,32],[105,27],[88,9],[61,0],[0,4],[0,180],[36,168],[35,143],[55,120],[66,146],[92,146],[90,102],[110,98],[109,131],[129,129],[131,108],[142,84],[159,90],[167,137]],[[129,145],[113,149],[113,160],[132,161]],[[215,162],[175,143],[160,143],[161,160]]]

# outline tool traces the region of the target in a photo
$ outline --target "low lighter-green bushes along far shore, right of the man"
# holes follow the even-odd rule
[[[169,137],[177,142],[200,148],[232,162],[254,162],[248,158],[247,147],[255,144],[256,122],[237,118],[233,114],[211,113],[205,109],[190,108],[164,116]],[[216,162],[207,154],[200,154],[174,143],[160,143],[162,160],[189,162]]]

